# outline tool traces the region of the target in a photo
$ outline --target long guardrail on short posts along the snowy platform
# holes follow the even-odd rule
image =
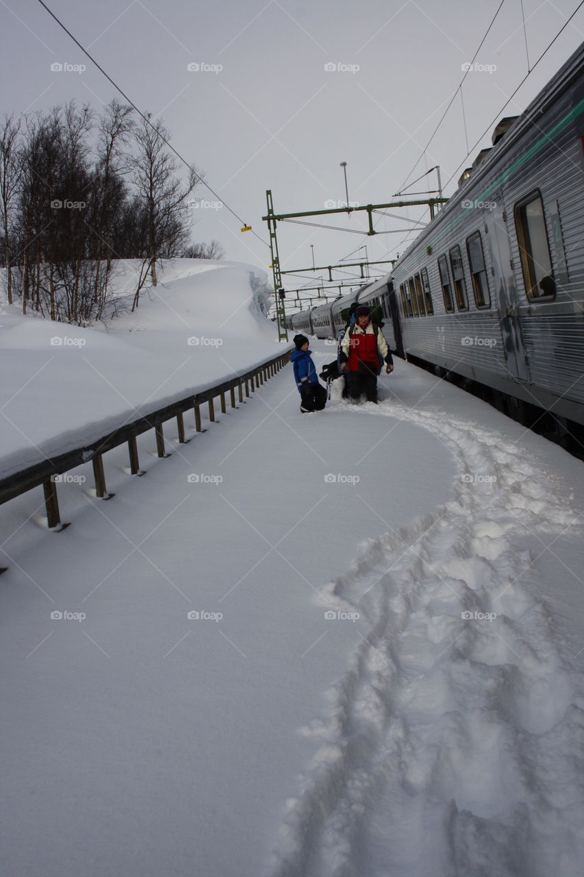
[[[279,372],[290,359],[291,351],[281,353],[269,360],[261,363],[249,371],[238,374],[237,377],[231,378],[230,381],[223,381],[215,387],[203,390],[201,393],[193,393],[185,396],[178,402],[166,405],[164,408],[153,411],[151,414],[143,417],[137,417],[131,422],[125,422],[117,429],[101,435],[91,442],[89,445],[75,448],[74,451],[61,453],[52,458],[46,458],[39,463],[34,463],[23,469],[21,472],[10,475],[7,478],[0,479],[0,505],[8,503],[9,500],[16,496],[21,496],[33,488],[40,487],[45,492],[45,509],[46,520],[49,527],[61,528],[61,515],[59,512],[59,501],[57,498],[57,483],[55,477],[83,463],[93,463],[93,474],[96,482],[96,496],[106,498],[113,496],[108,494],[105,487],[105,474],[103,472],[103,454],[112,448],[128,444],[128,453],[130,455],[130,471],[132,475],[140,474],[138,446],[136,438],[143,432],[154,430],[156,434],[156,447],[159,457],[167,457],[164,446],[163,424],[168,420],[176,417],[178,425],[178,439],[181,444],[185,443],[184,432],[184,413],[193,409],[195,412],[195,428],[197,432],[202,432],[201,425],[201,405],[207,403],[209,405],[209,419],[211,422],[215,420],[215,403],[217,396],[220,399],[221,411],[227,410],[226,394],[230,394],[231,408],[236,408],[235,391],[238,390],[239,402],[244,401],[244,392],[246,398],[249,398],[250,392],[263,384],[268,378]]]

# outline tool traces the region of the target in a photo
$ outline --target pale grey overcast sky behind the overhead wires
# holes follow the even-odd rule
[[[47,0],[139,109],[163,118],[176,149],[266,241],[266,189],[273,191],[276,212],[324,209],[330,200],[345,200],[343,160],[352,202],[391,201],[409,175],[411,182],[436,164],[445,194],[452,194],[461,170],[481,146],[490,146],[490,122],[527,72],[521,0],[505,0],[477,57],[481,68],[469,72],[462,89],[466,134],[457,95],[423,156],[459,87],[462,65],[471,61],[499,4]],[[578,4],[523,0],[531,66]],[[37,0],[0,0],[0,27],[3,111],[45,111],[72,97],[100,110],[114,96],[121,100]],[[501,115],[523,111],[583,39],[584,7]],[[52,70],[55,64],[86,69]],[[436,188],[436,175],[428,179],[410,191]],[[218,239],[227,258],[269,265],[267,246],[242,234],[215,196],[199,186],[194,197],[202,199],[193,211],[199,219],[194,239]],[[399,212],[401,218],[379,217],[377,230],[403,229],[408,218],[421,215]],[[366,225],[359,214],[324,221],[352,232]],[[403,252],[405,235],[371,238],[279,225],[281,266],[311,265],[310,245],[317,265],[364,245],[370,259],[387,259]],[[288,289],[302,284],[286,283]]]

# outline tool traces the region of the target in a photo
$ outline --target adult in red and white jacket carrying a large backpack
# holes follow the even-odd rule
[[[367,402],[377,402],[377,372],[379,357],[385,360],[387,374],[394,370],[394,360],[388,342],[378,325],[371,322],[371,310],[365,304],[355,311],[356,322],[341,342],[340,362],[349,374],[349,396],[357,402],[362,393]]]

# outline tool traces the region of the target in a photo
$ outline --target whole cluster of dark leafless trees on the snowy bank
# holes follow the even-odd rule
[[[74,102],[0,128],[0,262],[9,303],[73,324],[115,310],[112,261],[139,259],[132,302],[157,265],[175,256],[217,258],[217,241],[189,246],[187,198],[160,119],[132,118],[113,100],[101,116]]]

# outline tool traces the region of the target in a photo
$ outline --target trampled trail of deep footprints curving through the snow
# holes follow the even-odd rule
[[[303,729],[321,745],[270,873],[580,875],[584,693],[537,596],[538,554],[580,516],[495,431],[394,398],[367,410],[431,429],[461,480],[325,588],[370,626]]]

